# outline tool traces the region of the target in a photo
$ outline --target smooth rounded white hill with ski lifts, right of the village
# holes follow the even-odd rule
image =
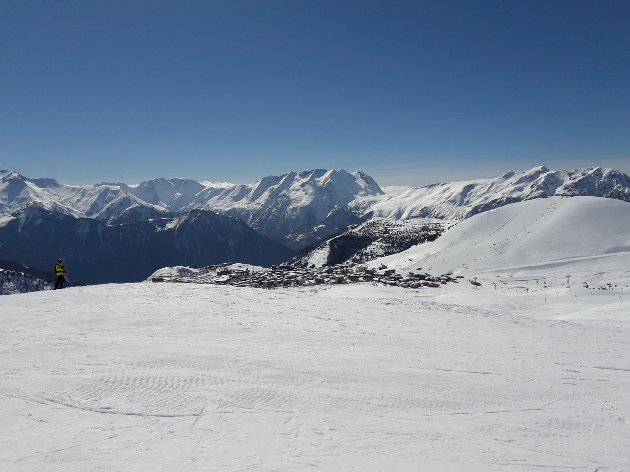
[[[630,275],[630,203],[584,196],[512,203],[372,262],[380,263],[468,276],[552,272],[588,281],[622,268]]]

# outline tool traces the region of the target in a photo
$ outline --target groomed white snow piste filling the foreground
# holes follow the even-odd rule
[[[3,296],[0,468],[628,471],[628,293],[550,294]]]

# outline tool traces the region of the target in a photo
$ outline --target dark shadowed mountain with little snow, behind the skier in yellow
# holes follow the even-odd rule
[[[37,205],[14,216],[0,227],[0,258],[43,268],[62,257],[67,275],[86,284],[142,281],[161,267],[181,264],[270,266],[292,254],[241,220],[207,210],[120,225]]]

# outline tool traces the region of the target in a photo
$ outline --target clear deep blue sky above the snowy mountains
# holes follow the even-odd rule
[[[630,1],[0,3],[0,169],[630,173]]]

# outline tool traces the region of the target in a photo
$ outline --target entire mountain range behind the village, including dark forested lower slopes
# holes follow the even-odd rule
[[[0,258],[45,268],[62,256],[81,283],[142,280],[171,264],[269,266],[374,217],[464,220],[554,195],[630,201],[630,177],[602,167],[535,167],[387,194],[364,172],[343,169],[287,172],[247,185],[159,178],[93,186],[0,171]],[[374,241],[392,231],[375,227],[383,233]]]

